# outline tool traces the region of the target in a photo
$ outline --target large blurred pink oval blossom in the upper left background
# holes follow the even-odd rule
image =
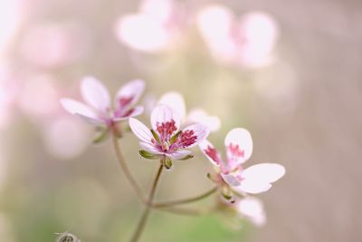
[[[81,58],[89,49],[89,40],[80,25],[41,24],[28,30],[20,50],[30,63],[58,67]]]

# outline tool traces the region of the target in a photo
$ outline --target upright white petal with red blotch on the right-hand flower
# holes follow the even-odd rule
[[[224,144],[230,167],[235,167],[252,156],[252,136],[243,128],[229,131],[225,137]]]

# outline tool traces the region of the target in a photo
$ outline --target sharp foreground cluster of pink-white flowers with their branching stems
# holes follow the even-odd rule
[[[134,80],[122,86],[116,94],[114,105],[110,101],[110,92],[105,86],[93,77],[86,77],[81,81],[81,96],[83,101],[78,102],[69,98],[61,100],[62,107],[71,114],[80,116],[83,120],[97,126],[113,135],[116,140],[115,149],[119,155],[118,139],[122,137],[119,122],[128,122],[130,130],[139,139],[139,154],[151,160],[160,161],[160,169],[149,198],[143,194],[140,198],[147,208],[176,208],[177,204],[205,198],[218,192],[218,211],[231,208],[243,218],[248,218],[255,225],[265,223],[265,214],[259,198],[250,196],[271,189],[271,183],[281,179],[285,169],[276,163],[261,163],[244,168],[244,162],[252,156],[252,137],[249,131],[235,128],[229,131],[224,139],[225,158],[206,140],[210,131],[217,131],[220,121],[205,112],[194,115],[190,119],[186,115],[185,103],[182,96],[176,92],[169,92],[162,96],[159,103],[150,115],[150,128],[134,117],[140,115],[144,108],[137,105],[144,92],[145,82]],[[191,115],[192,116],[192,115]],[[104,137],[104,136],[102,136]],[[208,173],[215,187],[206,195],[184,199],[181,202],[173,201],[157,204],[153,201],[157,180],[162,168],[170,169],[176,160],[188,160],[194,157],[192,147],[198,146],[207,160],[214,166],[214,173]],[[139,193],[137,181],[129,173],[129,169],[122,158],[119,158],[130,184]],[[230,209],[229,209],[230,210]],[[147,210],[148,211],[148,210]],[[145,216],[147,217],[147,216]],[[137,239],[131,240],[137,241]]]

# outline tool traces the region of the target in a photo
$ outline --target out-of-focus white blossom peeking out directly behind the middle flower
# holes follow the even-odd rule
[[[216,116],[210,116],[202,109],[193,109],[186,114],[186,104],[183,96],[178,92],[167,92],[161,96],[158,103],[167,104],[178,112],[184,124],[201,123],[210,131],[220,129],[220,120]]]

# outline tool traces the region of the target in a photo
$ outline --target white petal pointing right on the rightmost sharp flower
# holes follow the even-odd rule
[[[280,164],[262,163],[243,170],[243,179],[263,180],[269,183],[281,179],[285,169]]]

